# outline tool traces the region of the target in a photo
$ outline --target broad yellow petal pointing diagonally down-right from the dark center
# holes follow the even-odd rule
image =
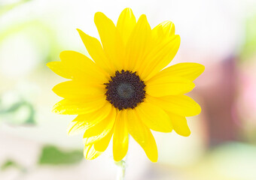
[[[136,113],[151,130],[165,133],[172,131],[172,123],[169,121],[169,116],[160,107],[148,102],[143,102],[136,107]]]

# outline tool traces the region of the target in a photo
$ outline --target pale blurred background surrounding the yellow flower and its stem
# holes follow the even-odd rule
[[[66,133],[74,116],[51,113],[61,99],[51,89],[64,79],[46,63],[67,49],[87,55],[76,28],[99,38],[94,13],[116,23],[125,7],[151,28],[175,23],[181,47],[170,65],[206,67],[190,93],[202,107],[187,118],[191,135],[154,133],[157,163],[131,139],[126,179],[255,180],[255,0],[0,0],[0,179],[115,179],[111,145],[84,160],[82,134]]]

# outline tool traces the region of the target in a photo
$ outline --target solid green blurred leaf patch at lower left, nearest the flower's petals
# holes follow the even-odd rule
[[[53,145],[44,146],[39,159],[39,164],[72,164],[83,159],[83,151],[61,151]]]

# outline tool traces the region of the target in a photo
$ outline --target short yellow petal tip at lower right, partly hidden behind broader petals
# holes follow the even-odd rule
[[[190,135],[190,129],[187,126],[187,119],[184,116],[175,115],[173,113],[168,113],[168,115],[172,121],[173,129],[175,130],[176,133],[178,133],[181,136]]]

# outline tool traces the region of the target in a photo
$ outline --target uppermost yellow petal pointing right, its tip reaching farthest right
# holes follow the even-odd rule
[[[198,63],[192,62],[184,62],[178,63],[176,65],[172,65],[163,71],[160,71],[153,78],[165,77],[165,76],[173,76],[173,77],[184,77],[187,80],[194,81],[200,74],[203,73],[205,67]]]

